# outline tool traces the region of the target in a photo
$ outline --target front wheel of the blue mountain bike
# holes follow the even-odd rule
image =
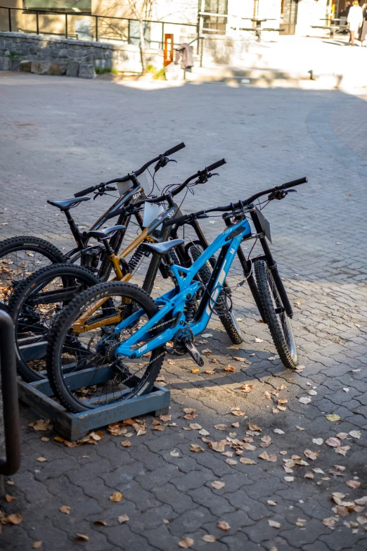
[[[273,275],[264,260],[255,260],[255,276],[266,323],[285,367],[297,366],[297,347],[290,318],[285,312]]]

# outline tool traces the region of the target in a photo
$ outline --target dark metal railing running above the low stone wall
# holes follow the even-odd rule
[[[14,11],[21,11],[23,15],[35,15],[36,16],[35,29],[34,30],[26,30],[26,31],[21,30],[21,32],[31,32],[31,33],[35,33],[35,34],[53,34],[53,35],[56,35],[57,33],[54,33],[54,32],[47,32],[47,31],[42,32],[41,31],[40,17],[42,17],[43,15],[58,15],[58,16],[61,16],[61,17],[65,17],[65,23],[64,23],[65,32],[59,34],[59,36],[62,36],[62,37],[65,37],[65,38],[73,38],[74,39],[78,35],[78,32],[75,32],[75,34],[73,33],[72,35],[70,35],[70,33],[69,33],[70,17],[72,17],[72,18],[84,17],[84,18],[91,18],[91,20],[94,20],[94,32],[91,34],[91,42],[105,42],[106,40],[107,41],[108,40],[114,40],[114,41],[117,41],[117,42],[127,42],[127,44],[133,44],[133,42],[132,42],[133,40],[135,40],[135,41],[140,40],[139,36],[134,36],[131,33],[131,26],[132,26],[131,23],[134,22],[136,24],[138,22],[138,20],[136,20],[136,19],[112,17],[110,15],[94,15],[93,13],[84,13],[84,12],[75,12],[75,11],[60,12],[60,11],[43,11],[43,10],[33,10],[33,9],[27,10],[27,9],[23,9],[23,8],[9,8],[8,6],[0,6],[0,10],[7,10],[8,11],[7,17],[5,16],[5,18],[3,18],[4,20],[8,21],[8,25],[7,25],[8,29],[1,29],[0,28],[0,30],[3,30],[3,31],[6,31],[6,30],[8,30],[8,32],[13,31],[14,25],[12,24],[11,15]],[[121,34],[119,35],[122,38],[117,38],[116,34],[113,35],[113,36],[108,36],[108,34],[105,34],[105,32],[103,32],[103,31],[101,32],[101,29],[103,28],[103,26],[104,27],[106,26],[106,25],[103,25],[103,23],[105,23],[105,20],[108,20],[108,21],[111,20],[114,25],[115,25],[115,23],[117,23],[117,29],[116,30],[117,31],[119,31],[119,30],[122,31]],[[125,24],[122,27],[122,25],[119,25],[119,24],[123,23],[123,22]],[[162,26],[161,32],[157,33],[157,34],[160,34],[160,39],[158,39],[158,40],[157,39],[152,39],[152,40],[146,39],[146,42],[149,43],[149,44],[152,44],[152,43],[153,44],[158,44],[159,49],[163,48],[163,44],[165,42],[165,25],[179,25],[180,27],[188,27],[189,29],[193,29],[193,30],[195,29],[195,32],[193,32],[193,35],[198,37],[198,25],[194,25],[193,23],[173,23],[173,22],[169,22],[169,21],[155,21],[155,20],[144,20],[143,21],[143,25],[146,29],[148,29],[148,27],[150,27],[152,24]],[[127,34],[124,33],[125,30],[127,31]],[[79,34],[83,34],[83,33],[79,32]]]

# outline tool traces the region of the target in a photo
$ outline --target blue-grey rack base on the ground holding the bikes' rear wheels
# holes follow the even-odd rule
[[[110,403],[81,413],[70,413],[65,407],[53,400],[48,379],[25,383],[18,379],[18,394],[22,403],[37,410],[43,417],[50,419],[55,430],[65,440],[75,442],[84,438],[89,431],[100,429],[115,423],[147,413],[165,414],[169,410],[171,395],[169,390],[154,385],[148,394],[136,396],[130,400]]]

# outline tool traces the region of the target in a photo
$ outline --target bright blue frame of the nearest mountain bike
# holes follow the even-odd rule
[[[205,296],[204,293],[201,303],[203,300],[205,301],[205,308],[202,310],[200,318],[195,320],[193,324],[190,325],[190,332],[194,336],[202,333],[210,320],[212,310],[223,287],[226,275],[231,268],[233,258],[238,251],[238,247],[240,246],[243,238],[250,237],[250,235],[250,224],[247,218],[244,218],[237,224],[231,225],[231,227],[228,227],[224,230],[224,232],[219,234],[219,236],[214,239],[213,243],[205,249],[202,255],[200,255],[200,258],[193,262],[191,267],[185,268],[175,264],[170,266],[169,270],[172,272],[177,281],[176,287],[155,300],[155,303],[160,306],[160,311],[149,319],[143,327],[134,333],[134,335],[127,338],[120,344],[120,346],[116,348],[115,357],[118,355],[131,358],[141,357],[144,353],[162,346],[167,343],[167,341],[171,341],[176,333],[182,329],[188,329],[188,326],[186,325],[186,316],[184,314],[185,304],[186,301],[190,300],[202,287],[201,282],[195,281],[193,278],[198,273],[200,268],[204,266],[205,263],[208,262],[208,260],[210,260],[215,253],[217,253],[217,251],[226,247],[227,251],[223,260],[221,260],[221,265],[218,267],[218,270],[215,270],[217,272],[217,277],[212,287],[212,293],[207,296]],[[217,262],[219,261],[220,260]],[[138,310],[131,316],[127,317],[127,319],[120,322],[120,324],[117,324],[115,327],[114,336],[118,336],[123,329],[137,322],[141,315],[143,315],[143,310]],[[162,322],[167,315],[170,315],[170,319],[172,319],[171,327],[165,329],[162,333],[153,336],[153,338],[150,338],[150,331],[152,331],[156,325],[160,324],[160,322]],[[165,324],[167,324],[167,322]],[[149,338],[150,340],[148,340]],[[137,343],[147,340],[148,342],[143,346],[134,348]]]

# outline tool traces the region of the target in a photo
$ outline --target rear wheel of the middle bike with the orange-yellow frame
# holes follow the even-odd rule
[[[44,379],[49,331],[60,311],[99,279],[89,270],[63,262],[34,272],[15,286],[8,303],[15,327],[18,373],[27,381]]]

